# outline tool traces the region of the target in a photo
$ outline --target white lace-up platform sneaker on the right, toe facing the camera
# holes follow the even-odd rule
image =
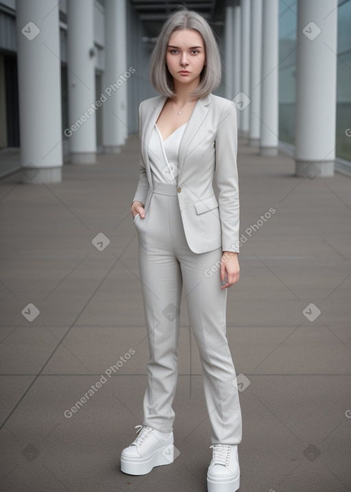
[[[240,487],[238,446],[213,444],[213,457],[207,471],[208,492],[236,492]]]

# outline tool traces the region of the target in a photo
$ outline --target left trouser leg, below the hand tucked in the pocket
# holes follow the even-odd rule
[[[179,312],[182,276],[167,226],[167,196],[154,194],[147,222],[137,219],[139,270],[149,343],[144,421],[161,432],[171,432],[173,397],[178,378]]]

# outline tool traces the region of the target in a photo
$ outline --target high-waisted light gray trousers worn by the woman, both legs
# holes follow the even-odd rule
[[[226,338],[227,289],[221,289],[222,250],[189,248],[173,184],[154,187],[145,218],[134,218],[149,341],[143,425],[171,432],[178,378],[178,336],[182,285],[204,378],[212,444],[241,442],[241,408],[236,373]],[[208,269],[217,265],[217,271]],[[216,270],[216,269],[215,269]]]

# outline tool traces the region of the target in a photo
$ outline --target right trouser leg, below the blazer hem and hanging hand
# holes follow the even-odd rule
[[[219,270],[206,276],[221,259],[221,248],[182,255],[181,268],[191,330],[195,336],[204,377],[204,394],[213,444],[241,442],[241,408],[234,386],[236,373],[226,338],[226,299]]]

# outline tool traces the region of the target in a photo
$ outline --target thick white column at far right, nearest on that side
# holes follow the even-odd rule
[[[298,1],[295,169],[306,178],[334,174],[337,3]]]

